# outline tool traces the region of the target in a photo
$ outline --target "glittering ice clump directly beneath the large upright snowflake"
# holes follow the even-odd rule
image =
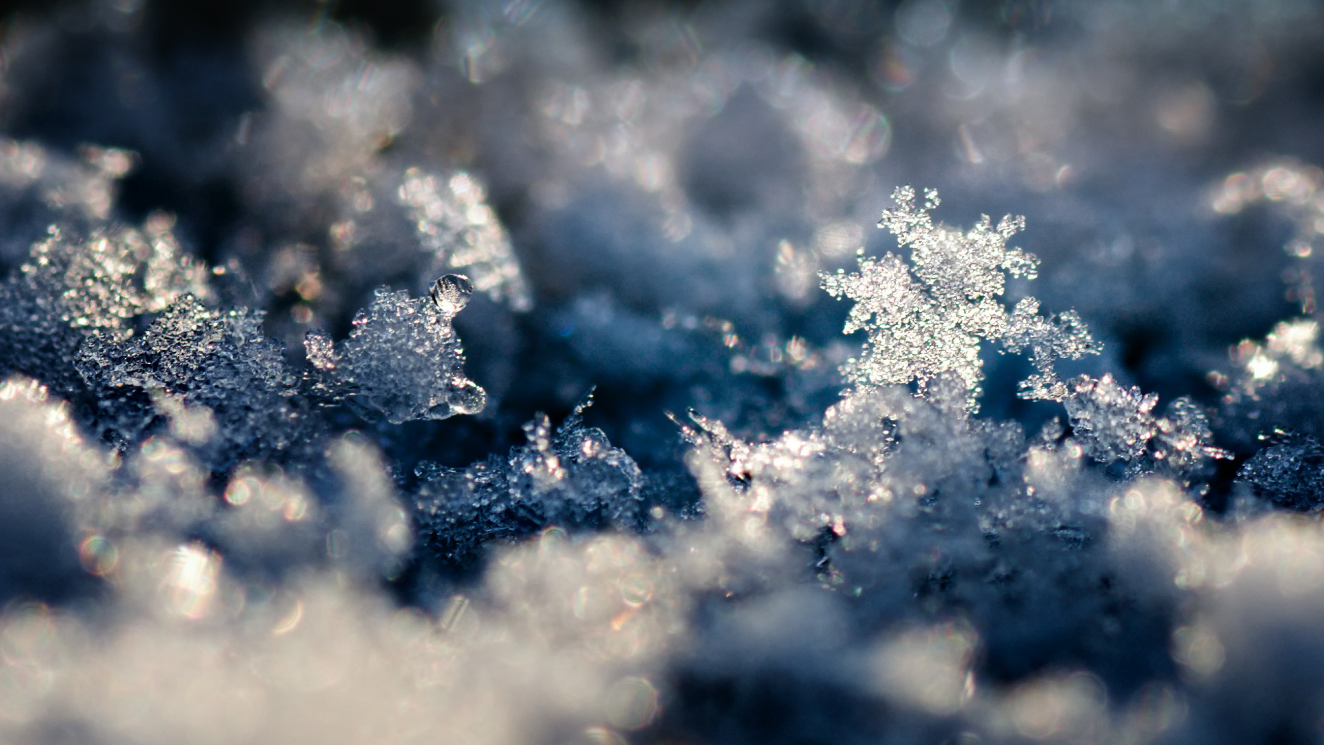
[[[691,415],[698,430],[685,433],[696,453],[739,485],[741,512],[776,517],[797,541],[835,541],[879,525],[884,514],[914,517],[920,505],[947,514],[981,502],[988,509],[1008,498],[1016,504],[1022,431],[965,418],[963,398],[951,403],[896,386],[866,388],[830,407],[821,428],[788,431],[765,443],[745,443],[699,415]],[[961,496],[956,502],[936,498],[944,493]]]

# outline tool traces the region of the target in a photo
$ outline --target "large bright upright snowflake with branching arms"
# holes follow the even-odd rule
[[[1025,298],[1008,313],[998,300],[1006,274],[1035,277],[1038,260],[1006,241],[1025,227],[1023,217],[1004,217],[997,228],[988,216],[969,232],[935,225],[929,211],[937,192],[924,192],[915,207],[915,191],[900,187],[892,195],[896,209],[883,212],[879,227],[911,247],[911,266],[894,253],[863,257],[859,273],[822,274],[833,297],[855,301],[846,333],[869,331],[865,354],[842,367],[857,386],[919,383],[922,391],[943,372],[955,374],[967,388],[967,407],[974,408],[982,379],[980,345],[1001,341],[1012,350],[1029,347],[1038,372],[1022,383],[1021,395],[1062,400],[1066,386],[1053,371],[1059,358],[1078,359],[1096,353],[1080,318],[1067,312],[1038,315],[1039,304]]]

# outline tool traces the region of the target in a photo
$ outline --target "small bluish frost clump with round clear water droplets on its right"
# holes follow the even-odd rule
[[[461,370],[465,353],[450,322],[469,302],[473,286],[462,274],[437,280],[432,297],[379,289],[367,312],[354,318],[350,338],[331,345],[310,331],[305,349],[334,398],[384,414],[393,423],[478,414],[487,394]]]

